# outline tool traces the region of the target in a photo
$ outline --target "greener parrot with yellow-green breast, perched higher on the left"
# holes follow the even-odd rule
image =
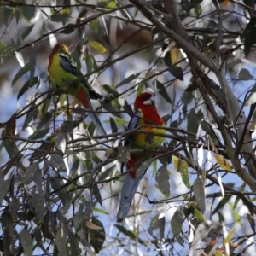
[[[48,65],[49,79],[58,87],[67,87],[67,93],[76,97],[82,103],[85,110],[88,112],[90,119],[93,120],[96,127],[103,135],[106,134],[102,123],[94,109],[91,106],[91,99],[102,99],[102,96],[90,88],[90,85],[84,79],[83,73],[79,70],[76,63],[73,61],[67,45],[56,44],[52,53],[49,55]],[[78,79],[80,79],[78,81]]]

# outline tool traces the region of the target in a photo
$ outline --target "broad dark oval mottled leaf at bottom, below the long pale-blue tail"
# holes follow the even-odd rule
[[[106,238],[105,229],[102,222],[97,218],[93,217],[91,222],[101,228],[99,230],[90,229],[90,244],[94,248],[95,252],[99,253],[102,250],[102,245]]]

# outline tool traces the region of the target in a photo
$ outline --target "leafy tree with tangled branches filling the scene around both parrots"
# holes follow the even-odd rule
[[[4,255],[256,251],[254,3],[0,5]],[[93,104],[108,135],[49,83],[56,43],[105,97]],[[121,142],[144,90],[156,95],[166,143],[116,224]]]

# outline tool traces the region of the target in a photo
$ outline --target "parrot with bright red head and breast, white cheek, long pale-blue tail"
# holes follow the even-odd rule
[[[152,99],[152,95],[148,92],[144,92],[143,94],[137,96],[134,107],[137,109],[137,113],[131,118],[131,121],[128,125],[128,130],[132,131],[135,128],[142,126],[139,128],[140,131],[147,132],[159,132],[166,134],[166,130],[161,128],[164,126],[163,119],[160,118],[159,113],[154,104],[154,100]],[[150,127],[147,125],[157,125],[159,128]],[[165,138],[160,136],[154,136],[154,139],[149,143],[146,138],[147,134],[145,133],[131,133],[129,137],[125,139],[125,147],[130,149],[145,149],[145,153],[143,154],[131,154],[130,160],[126,165],[127,171],[130,170],[129,173],[125,175],[125,181],[122,188],[121,199],[119,204],[119,212],[117,214],[117,221],[122,222],[126,217],[129,208],[131,206],[131,201],[137,191],[137,187],[143,178],[144,173],[137,175],[138,163],[142,161],[148,160],[153,157],[153,154],[150,153],[150,150],[155,150],[160,146]],[[145,141],[146,139],[146,141]],[[122,170],[123,172],[123,165]]]

